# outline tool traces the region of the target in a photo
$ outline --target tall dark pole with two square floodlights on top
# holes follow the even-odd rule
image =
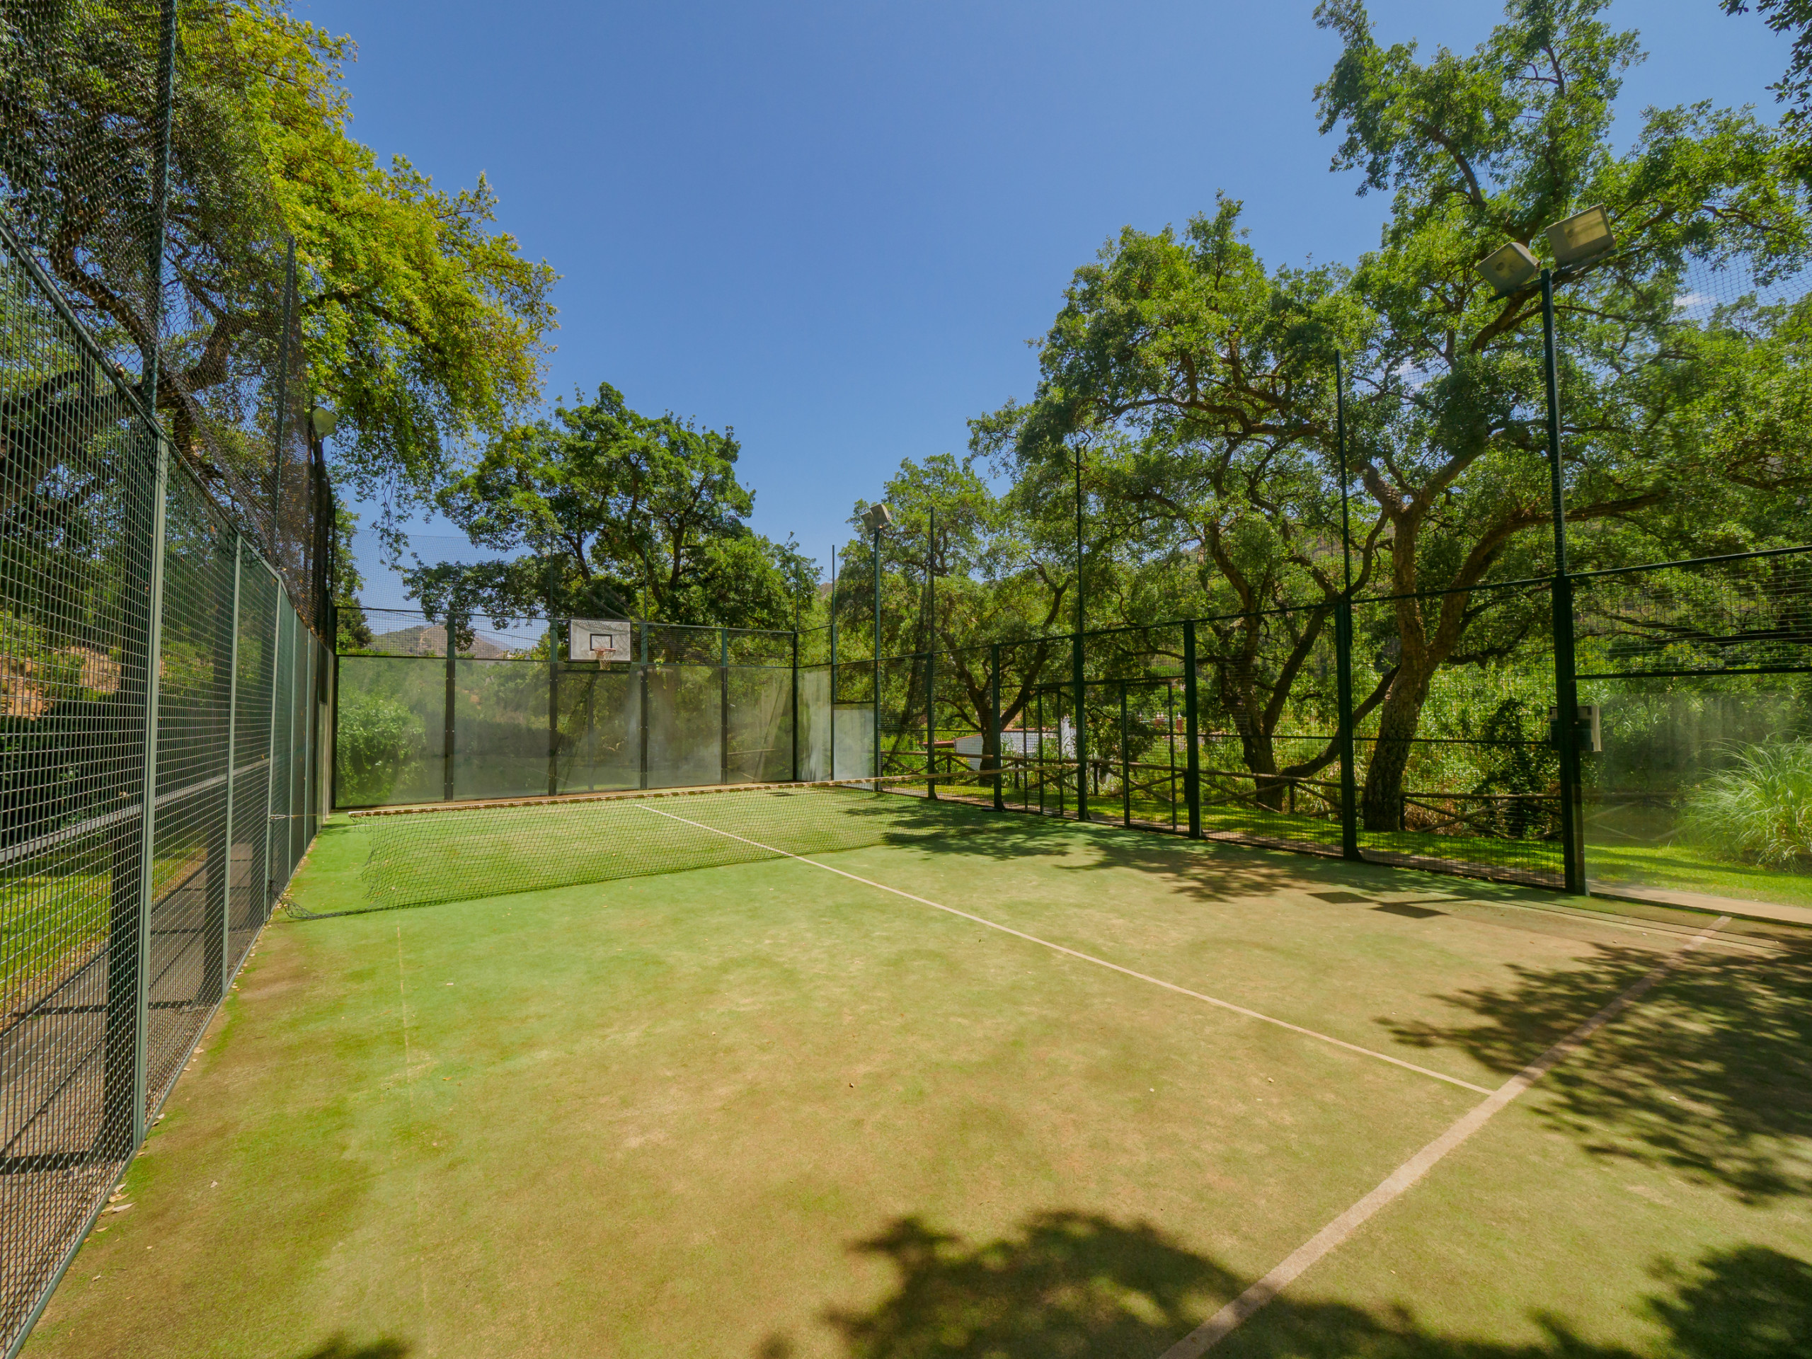
[[[1604,207],[1576,212],[1547,228],[1557,268],[1542,268],[1520,241],[1511,241],[1479,263],[1499,297],[1515,297],[1540,275],[1542,384],[1547,395],[1547,477],[1555,516],[1555,750],[1560,756],[1560,863],[1566,892],[1586,893],[1586,853],[1580,810],[1578,681],[1573,676],[1573,580],[1567,576],[1566,482],[1560,475],[1560,371],[1555,342],[1555,279],[1575,279],[1591,261],[1616,245]]]

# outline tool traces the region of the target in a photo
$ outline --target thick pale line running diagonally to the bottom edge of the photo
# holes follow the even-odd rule
[[[1586,1044],[1598,1029],[1616,1018],[1622,1011],[1636,1004],[1656,982],[1660,982],[1674,964],[1680,962],[1687,953],[1696,949],[1707,939],[1711,939],[1718,930],[1730,922],[1729,915],[1720,915],[1716,924],[1707,926],[1691,940],[1680,946],[1672,955],[1669,955],[1662,964],[1653,968],[1640,980],[1627,986],[1622,995],[1611,1000],[1604,1009],[1593,1015],[1589,1020],[1580,1024],[1573,1033],[1557,1042],[1538,1058],[1529,1062],[1522,1071],[1506,1080],[1491,1096],[1482,1104],[1475,1105],[1470,1113],[1462,1114],[1446,1132],[1430,1142],[1410,1160],[1384,1176],[1384,1181],[1366,1194],[1363,1200],[1354,1203],[1346,1212],[1330,1221],[1303,1245],[1292,1250],[1285,1259],[1272,1268],[1263,1279],[1254,1283],[1234,1301],[1216,1312],[1212,1317],[1203,1321],[1183,1339],[1165,1350],[1160,1359],[1201,1359],[1203,1354],[1219,1345],[1227,1335],[1239,1328],[1254,1312],[1258,1312],[1265,1303],[1283,1292],[1292,1279],[1296,1279],[1303,1270],[1321,1259],[1325,1254],[1334,1250],[1341,1241],[1352,1236],[1373,1212],[1383,1209],[1393,1198],[1402,1194],[1410,1185],[1428,1174],[1435,1161],[1446,1156],[1450,1151],[1459,1147],[1466,1138],[1484,1127],[1493,1114],[1508,1107],[1511,1100],[1522,1094],[1529,1085],[1538,1082],[1549,1071],[1553,1071],[1562,1060],[1566,1060],[1575,1049]]]

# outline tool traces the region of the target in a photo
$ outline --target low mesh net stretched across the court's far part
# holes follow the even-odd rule
[[[910,844],[964,815],[924,792],[919,776],[355,812],[371,846],[355,911]]]

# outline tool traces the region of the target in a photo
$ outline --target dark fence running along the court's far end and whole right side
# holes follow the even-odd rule
[[[1573,609],[1571,674],[1557,607]],[[564,623],[455,622],[449,647],[426,616],[362,618],[337,661],[342,806],[879,774],[1506,882],[1812,899],[1812,547],[879,661],[872,618],[837,638],[634,623],[611,663],[573,660]],[[1441,629],[1444,663],[1393,707],[1415,638]]]

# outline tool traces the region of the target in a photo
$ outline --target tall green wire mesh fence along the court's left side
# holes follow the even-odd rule
[[[0,1345],[313,837],[330,513],[208,5],[0,5]]]

